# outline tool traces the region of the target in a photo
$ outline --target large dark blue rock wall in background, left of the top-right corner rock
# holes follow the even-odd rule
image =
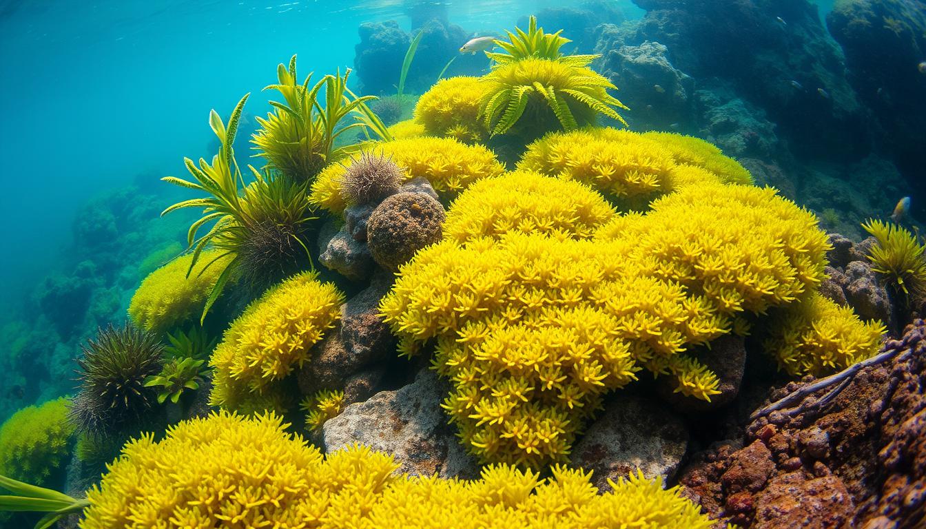
[[[868,153],[863,108],[817,6],[807,0],[634,3],[647,13],[624,31],[623,44],[665,44],[675,68],[697,80],[732,83],[738,97],[778,124],[778,135],[798,156]]]

